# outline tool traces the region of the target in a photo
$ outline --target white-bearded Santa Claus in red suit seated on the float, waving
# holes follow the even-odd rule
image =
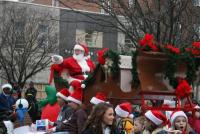
[[[76,44],[73,49],[73,56],[63,59],[60,55],[52,56],[53,65],[51,66],[50,81],[53,79],[54,71],[58,72],[64,77],[70,84],[70,92],[77,88],[85,88],[84,84],[81,84],[83,80],[88,77],[88,74],[93,72],[94,63],[88,56],[88,48],[83,44]]]

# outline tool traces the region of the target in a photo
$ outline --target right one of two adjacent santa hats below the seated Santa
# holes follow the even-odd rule
[[[72,101],[76,104],[82,104],[82,94],[83,91],[81,88],[76,89],[70,96],[67,97],[67,101]]]

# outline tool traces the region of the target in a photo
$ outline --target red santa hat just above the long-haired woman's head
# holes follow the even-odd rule
[[[96,96],[92,97],[92,99],[90,100],[90,103],[97,105],[99,103],[103,103],[106,101],[106,96],[104,93],[102,92],[98,92],[96,94]]]

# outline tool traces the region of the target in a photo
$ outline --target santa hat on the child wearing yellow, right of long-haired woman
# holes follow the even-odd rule
[[[124,102],[121,103],[120,105],[117,105],[117,107],[115,108],[115,112],[120,117],[133,118],[133,114],[131,114],[132,112],[131,103],[129,102]]]

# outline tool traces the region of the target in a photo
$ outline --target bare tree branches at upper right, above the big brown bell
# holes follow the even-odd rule
[[[59,1],[73,9],[66,0]],[[171,43],[182,47],[200,39],[199,8],[193,6],[192,0],[79,0],[73,5],[84,6],[81,1],[98,5],[115,19],[117,25],[108,22],[109,26],[128,36],[132,47],[138,46],[138,40],[145,33],[153,34],[159,45]]]

